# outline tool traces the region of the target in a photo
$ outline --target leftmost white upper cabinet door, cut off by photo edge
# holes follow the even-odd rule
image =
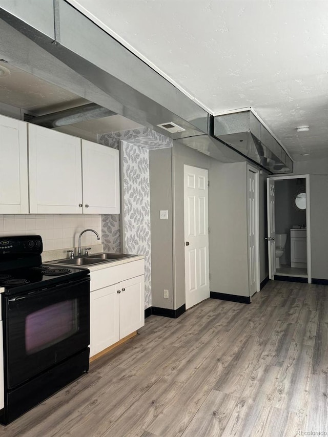
[[[0,214],[28,214],[27,123],[0,115]]]

